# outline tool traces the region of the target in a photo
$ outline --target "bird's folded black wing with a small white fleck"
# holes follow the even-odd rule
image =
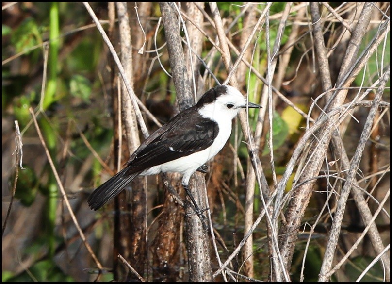
[[[148,143],[143,143],[131,156],[127,162],[129,174],[208,148],[218,135],[219,127],[215,121],[201,117],[192,107],[172,118],[157,132],[158,135],[152,134],[153,139],[146,140]]]

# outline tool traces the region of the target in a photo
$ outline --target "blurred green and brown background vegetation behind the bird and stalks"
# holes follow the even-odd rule
[[[211,17],[208,4],[198,3]],[[329,4],[336,8],[343,18],[351,19],[352,15],[360,12],[356,3],[330,2]],[[100,2],[91,5],[108,32],[111,27],[108,3]],[[188,12],[187,5],[183,2],[180,7],[185,15]],[[268,11],[268,27],[264,23],[249,48],[248,58],[252,59],[254,69],[249,72],[248,67],[245,65],[242,67],[245,72],[240,75],[244,81],[240,84],[241,91],[248,93],[249,99],[257,103],[261,101],[264,84],[254,70],[266,77],[268,67],[266,31],[268,29],[269,46],[272,50],[286,5],[285,2],[272,4]],[[101,181],[112,175],[117,167],[111,155],[115,132],[113,116],[117,108],[112,99],[113,96],[117,96],[117,85],[114,84],[116,79],[113,78],[118,75],[118,71],[114,69],[112,56],[82,3],[2,2],[2,6],[2,224],[6,216],[8,218],[2,232],[2,280],[79,282],[92,281],[97,277],[96,264],[82,244],[65,208],[58,183],[33,126],[30,107],[37,117],[51,158],[73,212],[87,237],[87,242],[92,246],[100,263],[106,267],[99,281],[125,280],[125,278],[116,279],[113,274],[113,263],[116,261],[113,251],[113,204],[93,212],[86,202],[88,194]],[[158,2],[138,2],[137,6],[138,9],[135,9],[134,2],[128,3],[133,48],[133,89],[147,109],[164,123],[176,113],[177,103],[173,81],[167,75],[167,72],[170,72],[170,65],[163,27],[162,24],[158,26],[161,12]],[[366,33],[367,36],[363,38],[362,50],[377,33],[380,23],[385,21],[386,17],[389,21],[390,3],[376,2],[376,6],[372,24]],[[244,44],[243,34],[253,29],[265,4],[220,2],[218,7],[231,44],[237,50],[241,50]],[[325,42],[330,50],[331,77],[334,77],[338,74],[344,53],[344,50],[340,51],[337,48],[342,40],[339,35],[344,27],[324,6],[320,6],[320,9]],[[253,18],[249,15],[253,15]],[[188,16],[193,17],[193,15]],[[189,24],[189,20],[185,22]],[[308,5],[305,2],[292,4],[285,25],[278,45],[278,53],[274,54],[278,56],[278,65],[282,65],[285,52],[290,48],[292,50],[288,56],[287,66],[283,67],[283,70],[277,68],[283,72],[283,77],[279,77],[281,84],[273,83],[273,86],[295,106],[307,113],[313,100],[322,93],[318,67],[314,62],[315,53],[310,32],[311,19]],[[200,57],[222,83],[227,77],[227,72],[220,53],[210,41],[211,38],[216,40],[216,31],[207,17],[204,17],[201,28],[205,34],[203,34],[204,43]],[[294,30],[295,38],[290,40]],[[184,32],[181,35],[185,38]],[[190,34],[190,37],[192,36],[193,34]],[[119,52],[116,23],[114,23],[111,40]],[[139,53],[143,44],[145,44],[144,50]],[[232,57],[234,62],[237,54],[232,52]],[[381,65],[381,57],[383,65]],[[388,64],[390,64],[389,33],[388,40],[369,59],[366,69],[357,76],[353,86],[372,85],[378,79],[380,70]],[[206,66],[201,65],[198,69],[200,74],[198,80],[201,82],[197,84],[199,95],[216,85]],[[278,71],[276,76],[277,73]],[[336,78],[332,80],[335,82]],[[390,101],[389,86],[390,83],[382,98],[386,102]],[[347,97],[347,101],[354,98],[357,92],[358,89],[354,89]],[[275,96],[272,103],[274,137],[272,149],[275,168],[270,165],[270,148],[266,142],[270,135],[267,118],[259,145],[261,163],[271,191],[273,172],[279,179],[305,127],[305,118],[294,108]],[[342,136],[349,155],[355,151],[367,112],[367,108],[359,108],[355,112],[359,124],[354,119],[349,119],[343,124],[345,131]],[[311,115],[316,118],[319,114],[320,110],[317,109]],[[250,112],[250,125],[253,130],[257,118],[258,112]],[[145,119],[152,133],[157,126],[147,117]],[[20,127],[23,142],[23,169],[18,170],[16,170],[18,165],[15,153],[15,120]],[[245,144],[240,142],[242,138],[241,134],[238,134],[240,127],[237,122],[234,123],[231,145],[228,144],[216,157],[213,165],[210,165],[211,172],[206,175],[212,223],[216,233],[219,234],[218,249],[223,258],[233,251],[244,234],[245,176],[249,160]],[[364,184],[367,184],[364,185],[365,188],[374,188],[371,195],[376,200],[381,200],[390,186],[389,108],[379,117],[376,125],[377,132],[370,139],[371,143],[367,145],[361,163],[360,178],[363,178]],[[143,139],[142,135],[140,137]],[[237,144],[238,147],[234,149],[232,145]],[[236,167],[233,167],[236,159],[233,151],[238,155],[238,161],[235,161],[238,162],[235,164]],[[123,159],[127,159],[128,154],[125,151]],[[176,244],[177,257],[175,261],[173,260],[174,263],[170,264],[171,270],[168,270],[170,272],[158,271],[153,261],[157,242],[152,240],[158,230],[155,220],[159,217],[160,205],[163,204],[163,185],[159,178],[155,177],[149,178],[148,183],[147,258],[141,274],[149,280],[184,281],[188,268],[186,251],[180,239]],[[317,194],[313,194],[308,205],[302,221],[304,226],[300,231],[294,252],[290,270],[293,281],[300,280],[300,270],[303,265],[305,281],[317,280],[327,242],[327,228],[331,223],[329,214],[326,214],[316,227],[316,233],[311,237],[306,262],[302,264],[303,251],[308,238],[307,230],[309,230],[305,224],[313,225],[315,216],[321,212],[326,200],[327,181],[319,179],[316,184],[314,190]],[[287,190],[290,188],[291,184],[288,185]],[[10,200],[14,194],[15,200],[11,204]],[[390,237],[390,209],[389,202],[387,203],[384,209],[388,214],[376,219],[377,228],[385,237],[385,243],[389,243]],[[330,205],[333,207],[333,202]],[[372,206],[376,210],[375,204]],[[355,204],[351,202],[348,208],[350,210],[344,218],[339,254],[344,254],[363,231],[363,224]],[[253,210],[255,218],[261,209],[260,193],[256,191]],[[330,210],[333,213],[333,208]],[[251,277],[257,280],[269,279],[270,256],[267,243],[266,224],[263,223],[253,234],[254,273]],[[371,244],[365,238],[360,248],[334,275],[333,280],[354,281],[374,257]],[[248,275],[242,267],[243,260],[240,256],[234,262],[231,269]],[[169,273],[173,275],[165,278]],[[381,265],[372,267],[366,277],[363,280],[382,281]],[[241,281],[241,278],[239,280]]]

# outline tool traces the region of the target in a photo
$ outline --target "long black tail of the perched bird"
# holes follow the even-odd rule
[[[127,168],[123,168],[105,183],[98,186],[88,197],[87,203],[91,209],[98,210],[131,183],[140,172],[126,174]]]

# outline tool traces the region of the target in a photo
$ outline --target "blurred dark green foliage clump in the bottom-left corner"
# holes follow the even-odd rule
[[[28,270],[13,276],[9,271],[3,271],[3,282],[74,282],[53,261],[42,260],[36,262]]]

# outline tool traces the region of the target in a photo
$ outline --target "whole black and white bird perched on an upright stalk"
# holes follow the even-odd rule
[[[182,174],[181,184],[196,213],[200,214],[188,189],[189,179],[222,150],[231,134],[232,119],[246,107],[261,108],[258,104],[247,102],[232,86],[222,85],[208,90],[196,105],[180,112],[151,134],[121,171],[90,194],[87,200],[89,206],[99,209],[138,175],[178,172]]]

